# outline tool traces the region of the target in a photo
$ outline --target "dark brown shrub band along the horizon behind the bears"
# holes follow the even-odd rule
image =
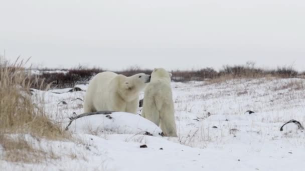
[[[114,71],[119,74],[126,76],[133,75],[135,73],[144,72],[150,74],[150,69],[141,69],[140,67],[134,66],[123,70]],[[47,84],[51,84],[52,88],[66,88],[73,87],[76,84],[87,83],[92,76],[98,72],[104,71],[102,68],[86,68],[78,66],[71,69],[57,69],[66,71],[66,73],[50,73],[48,71],[54,71],[56,69],[43,68],[38,69],[44,71],[42,75],[37,75],[38,83],[33,84],[33,88],[41,89],[41,82],[46,87]],[[277,67],[276,69],[265,69],[256,67],[254,62],[247,62],[244,65],[225,65],[219,71],[216,71],[212,67],[205,67],[198,70],[172,70],[172,80],[178,82],[187,81],[203,81],[209,80],[210,83],[218,83],[234,78],[262,78],[262,77],[275,77],[275,78],[294,78],[304,77],[305,72],[297,72],[292,66]],[[208,83],[209,83],[208,82]]]

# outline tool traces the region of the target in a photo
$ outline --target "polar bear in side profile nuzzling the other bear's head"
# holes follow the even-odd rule
[[[150,75],[125,76],[110,71],[96,74],[85,94],[84,112],[100,110],[137,113],[139,92],[150,81]]]

